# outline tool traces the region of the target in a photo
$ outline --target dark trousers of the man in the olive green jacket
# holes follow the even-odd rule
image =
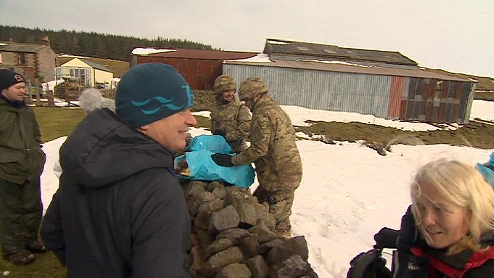
[[[0,178],[0,242],[2,254],[24,248],[24,243],[38,239],[43,204],[40,180],[16,184]]]

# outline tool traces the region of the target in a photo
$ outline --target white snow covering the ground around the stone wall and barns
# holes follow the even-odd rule
[[[433,130],[422,123],[384,120],[356,113],[309,110],[283,106],[294,125],[305,120],[359,121],[408,130]],[[199,112],[209,116],[209,112]],[[472,118],[494,119],[494,102],[474,100]],[[192,129],[192,136],[209,134]],[[52,171],[65,138],[44,144],[47,154],[42,175],[45,209],[58,187]],[[494,139],[493,139],[494,140]],[[410,203],[408,186],[418,167],[439,157],[457,158],[474,165],[485,162],[494,151],[449,145],[393,146],[387,156],[358,143],[297,142],[304,167],[302,183],[295,193],[292,233],[304,235],[309,245],[309,262],[319,277],[344,277],[349,261],[372,248],[373,235],[381,227],[399,229],[400,219]],[[253,190],[257,182],[251,186]]]

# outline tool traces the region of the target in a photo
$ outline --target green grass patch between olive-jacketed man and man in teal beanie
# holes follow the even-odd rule
[[[43,142],[69,135],[84,118],[80,108],[33,107],[33,110]]]

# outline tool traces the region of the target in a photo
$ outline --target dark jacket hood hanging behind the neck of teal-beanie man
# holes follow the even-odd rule
[[[105,108],[87,115],[67,138],[60,148],[60,165],[78,184],[103,187],[148,168],[171,168],[172,156]]]

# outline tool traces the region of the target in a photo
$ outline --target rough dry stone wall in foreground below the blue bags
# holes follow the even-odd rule
[[[183,185],[192,222],[192,277],[317,277],[304,236],[277,236],[275,218],[249,189],[218,181]]]

